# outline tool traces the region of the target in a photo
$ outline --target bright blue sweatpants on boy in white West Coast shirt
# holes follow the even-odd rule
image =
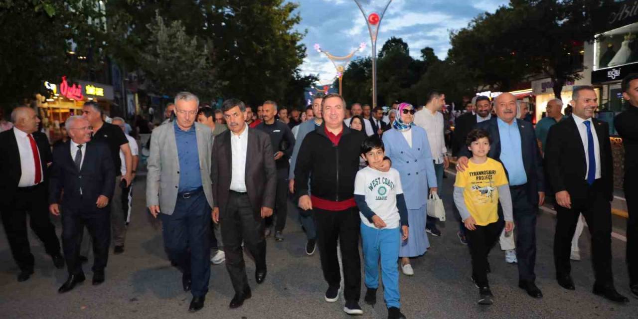
[[[381,279],[383,299],[387,308],[401,308],[399,303],[399,271],[397,259],[401,246],[401,228],[378,229],[361,223],[361,241],[366,270],[366,287],[379,286],[379,258],[381,258]]]

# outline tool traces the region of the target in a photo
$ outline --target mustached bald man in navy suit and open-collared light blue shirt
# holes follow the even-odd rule
[[[494,100],[496,118],[479,122],[475,128],[489,132],[492,145],[487,156],[503,163],[510,183],[514,223],[518,229],[516,255],[519,268],[519,287],[534,298],[543,293],[535,284],[536,275],[536,215],[538,206],[545,202],[545,184],[536,134],[530,122],[516,119],[516,97],[503,93]],[[456,169],[467,167],[468,149],[461,156]]]

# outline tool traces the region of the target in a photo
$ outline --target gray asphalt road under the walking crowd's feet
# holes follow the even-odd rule
[[[638,299],[630,297],[625,267],[624,234],[612,239],[616,287],[630,297],[628,305],[608,302],[591,293],[590,236],[581,237],[581,262],[572,262],[576,290],[564,290],[554,280],[552,257],[554,215],[541,211],[537,227],[537,285],[545,297],[528,297],[517,287],[517,268],[505,263],[498,247],[490,255],[489,275],[495,295],[493,306],[476,304],[477,289],[470,281],[470,254],[456,237],[457,222],[452,216],[450,191],[454,176],[444,180],[443,193],[448,219],[440,223],[443,235],[429,237],[431,249],[415,258],[415,276],[400,275],[402,311],[407,318],[638,318]],[[290,212],[285,241],[267,244],[268,275],[262,285],[255,283],[255,265],[247,262],[252,299],[239,309],[229,309],[234,292],[224,265],[212,265],[210,291],[205,307],[188,313],[189,293],[181,289],[181,274],[171,267],[164,253],[159,225],[145,212],[144,177],[135,184],[135,213],[122,255],[110,255],[106,281],[91,286],[92,260],[84,265],[87,281],[63,295],[57,288],[66,280],[66,269],[55,269],[43,246],[29,234],[36,258],[35,274],[18,283],[17,266],[11,258],[4,230],[0,234],[0,317],[9,318],[348,318],[343,301],[327,303],[323,293],[318,253],[304,252],[306,237]],[[292,205],[291,205],[292,208]],[[54,219],[58,234],[61,226]],[[624,220],[614,218],[614,231],[622,232]],[[619,239],[620,238],[620,239]],[[362,287],[362,296],[365,287]],[[382,290],[375,308],[361,300],[361,318],[387,318]]]

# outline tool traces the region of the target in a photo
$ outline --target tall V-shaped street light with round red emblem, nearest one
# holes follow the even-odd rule
[[[359,6],[372,43],[372,108],[376,107],[376,36],[379,34],[381,20],[392,0],[354,0]],[[380,11],[377,13],[375,10]]]

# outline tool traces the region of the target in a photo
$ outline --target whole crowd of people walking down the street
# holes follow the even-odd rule
[[[625,78],[622,89],[627,110],[614,122],[625,147],[627,263],[630,290],[638,297],[638,212],[631,196],[638,180],[638,74]],[[381,279],[388,318],[405,318],[399,274],[413,276],[411,258],[427,252],[428,235],[441,235],[427,200],[429,194],[441,196],[445,169],[454,162],[453,196],[445,200],[454,203],[457,235],[469,248],[479,304],[494,302],[487,255],[496,241],[505,260],[517,264],[518,286],[543,297],[535,276],[536,224],[546,196],[555,198],[557,212],[558,284],[575,289],[570,260],[580,259],[577,242],[587,223],[593,293],[628,302],[616,291],[611,270],[612,152],[609,125],[595,118],[593,87],[574,88],[569,116],[561,113],[561,100],[549,101],[547,117],[535,127],[510,93],[494,100],[477,96],[471,103],[446,143],[441,92],[429,93],[421,107],[397,101],[387,113],[359,103],[346,107],[339,94],[327,94],[290,115],[276,101],[253,112],[234,98],[216,109],[200,105],[195,94],[177,94],[165,121],[148,127],[145,201],[161,220],[165,250],[182,272],[183,290],[193,295],[188,310],[204,307],[211,263],[226,265],[235,290],[230,308],[251,297],[244,249],[255,261],[256,283],[263,283],[266,239],[285,240],[292,200],[306,253],[320,253],[323,299],[336,302],[343,290],[343,311],[363,313],[361,248],[364,302],[376,304]],[[0,123],[6,129],[0,133],[0,152],[6,154],[0,158],[6,177],[0,181],[0,210],[18,281],[34,269],[26,214],[54,266],[66,263],[60,293],[85,280],[82,263],[91,247],[93,285],[105,281],[110,247],[124,252],[138,147],[125,133],[124,119],[107,122],[103,113],[98,103],[85,103],[82,115],[64,123],[68,137],[52,149],[32,108],[15,108],[11,122]],[[61,216],[61,244],[48,213]]]

